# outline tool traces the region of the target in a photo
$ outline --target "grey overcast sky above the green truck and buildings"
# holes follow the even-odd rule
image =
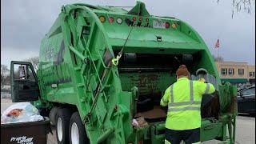
[[[255,10],[252,14],[232,15],[232,0],[158,0],[148,1],[152,15],[170,16],[188,22],[205,40],[212,54],[220,39],[224,61],[248,62],[255,59]],[[22,60],[39,54],[40,42],[58,17],[61,6],[84,2],[102,6],[135,6],[132,0],[2,0],[1,1],[1,64],[10,67],[11,60]]]

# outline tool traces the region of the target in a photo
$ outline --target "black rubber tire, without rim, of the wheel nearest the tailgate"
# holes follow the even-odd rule
[[[70,144],[72,144],[71,128],[74,123],[77,125],[77,128],[78,128],[79,144],[90,144],[90,140],[89,138],[87,138],[87,135],[86,135],[85,126],[82,124],[82,121],[78,112],[75,112],[74,114],[72,114],[70,118],[70,128],[69,128]]]

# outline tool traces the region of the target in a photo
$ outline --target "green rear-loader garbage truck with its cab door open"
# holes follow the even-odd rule
[[[150,15],[142,2],[130,11],[76,3],[42,38],[36,72],[11,62],[13,102],[32,102],[56,126],[58,143],[164,143],[160,100],[185,64],[205,78],[201,141],[234,143],[236,87],[222,83],[210,51],[186,22]]]

